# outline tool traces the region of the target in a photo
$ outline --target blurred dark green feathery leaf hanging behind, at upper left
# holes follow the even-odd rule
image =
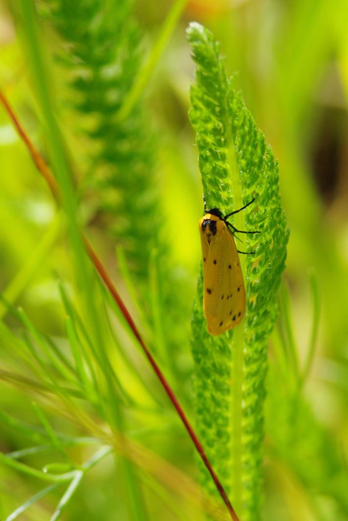
[[[118,119],[142,58],[133,2],[45,0],[45,5],[68,43],[59,58],[71,69],[71,103],[85,117],[99,211],[109,216],[113,237],[124,247],[138,282],[144,281],[151,249],[162,249],[154,136],[140,102],[125,120]]]

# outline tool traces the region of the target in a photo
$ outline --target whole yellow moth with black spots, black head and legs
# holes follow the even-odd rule
[[[213,335],[238,326],[246,310],[246,291],[231,229],[240,233],[260,232],[241,232],[227,218],[253,201],[225,217],[218,208],[207,210],[204,207],[205,215],[199,220],[204,280],[203,311],[208,333]]]

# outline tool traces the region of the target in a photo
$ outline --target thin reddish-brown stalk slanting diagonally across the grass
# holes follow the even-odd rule
[[[1,91],[0,91],[0,100],[3,103],[10,119],[14,123],[21,139],[24,141],[25,145],[27,146],[27,148],[32,156],[32,159],[36,165],[36,168],[38,169],[38,171],[40,171],[42,173],[42,175],[46,179],[46,181],[49,185],[49,188],[51,190],[51,193],[54,196],[54,199],[56,200],[57,203],[59,203],[59,187],[58,187],[57,181],[56,181],[53,173],[50,171],[50,169],[47,166],[47,164],[45,163],[43,157],[40,155],[40,153],[36,150],[36,148],[34,147],[32,142],[30,141],[28,135],[24,132],[17,116],[15,115],[14,111],[12,110],[7,99],[2,94]],[[108,272],[106,271],[104,265],[100,261],[96,252],[93,250],[93,247],[89,243],[88,239],[83,234],[82,234],[82,239],[85,244],[86,251],[87,251],[89,257],[91,258],[91,261],[93,262],[96,270],[98,271],[100,278],[105,283],[105,286],[108,288],[114,301],[117,303],[117,305],[121,309],[121,312],[122,312],[123,316],[125,317],[125,319],[127,320],[130,328],[132,329],[135,338],[138,340],[139,344],[141,345],[141,348],[143,349],[145,356],[147,357],[150,365],[152,366],[154,372],[156,373],[158,379],[160,380],[165,392],[169,396],[170,401],[174,405],[176,412],[178,413],[179,417],[181,418],[192,442],[194,443],[199,455],[201,456],[201,458],[203,460],[204,465],[207,467],[208,472],[210,473],[218,492],[220,493],[222,499],[224,500],[224,502],[227,506],[231,519],[233,519],[234,521],[239,521],[239,518],[228,499],[227,493],[226,493],[222,483],[218,479],[218,477],[215,473],[215,470],[213,469],[211,463],[208,460],[207,455],[204,452],[202,444],[200,443],[194,429],[191,427],[191,424],[189,423],[187,416],[184,413],[182,406],[179,404],[172,388],[170,387],[169,383],[166,381],[161,369],[159,368],[159,366],[157,365],[153,356],[151,355],[150,351],[148,350],[144,340],[141,338],[141,335],[140,335],[130,313],[128,312],[128,309],[126,308],[124,302],[122,301],[121,296],[119,295],[117,289],[115,288]]]

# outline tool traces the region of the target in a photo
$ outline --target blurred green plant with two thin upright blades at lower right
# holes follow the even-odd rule
[[[294,339],[290,293],[283,284],[279,294],[280,319],[272,336],[275,363],[268,379],[267,451],[283,465],[305,491],[306,501],[317,519],[348,518],[348,474],[342,448],[329,430],[315,417],[304,394],[313,365],[319,325],[319,297],[315,272],[310,273],[313,317],[306,357],[300,364],[299,346]],[[301,367],[302,365],[302,367]],[[276,427],[275,427],[276,426]],[[327,513],[326,501],[333,500]]]

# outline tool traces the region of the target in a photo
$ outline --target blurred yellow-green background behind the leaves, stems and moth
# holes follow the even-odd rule
[[[95,116],[91,111],[82,118],[81,112],[73,107],[79,94],[70,88],[71,68],[67,68],[61,58],[67,47],[62,34],[45,13],[46,4],[37,4],[42,16],[41,38],[54,78],[51,88],[57,103],[59,125],[81,193],[86,233],[141,323],[141,313],[130,299],[129,288],[118,268],[117,233],[113,229],[123,224],[108,212],[115,202],[117,204],[117,199],[105,190],[107,183],[102,182],[105,167],[99,165],[96,173],[95,162],[91,160],[91,149],[94,152],[93,147],[97,149],[98,144],[86,137],[86,129],[93,127]],[[171,6],[167,1],[135,2],[130,16],[139,28],[140,64],[145,63],[157,41]],[[29,137],[47,158],[40,104],[19,13],[17,2],[2,0],[0,3],[0,84]],[[166,243],[166,255],[175,268],[173,280],[177,280],[182,292],[181,300],[174,304],[182,306],[176,322],[181,348],[171,353],[175,370],[172,369],[172,374],[169,371],[169,375],[189,414],[192,414],[190,309],[200,261],[197,222],[202,215],[195,134],[187,117],[188,89],[194,66],[185,28],[191,20],[210,28],[221,42],[227,73],[238,72],[237,87],[242,90],[247,107],[279,161],[281,196],[290,229],[280,309],[283,315],[286,314],[288,338],[295,346],[300,366],[307,358],[313,316],[319,306],[313,363],[301,390],[301,403],[310,411],[311,422],[308,428],[301,423],[294,436],[301,440],[315,431],[319,434],[314,438],[320,441],[313,459],[311,451],[303,450],[304,468],[300,464],[301,446],[296,461],[282,453],[281,446],[284,448],[286,444],[281,445],[278,440],[277,445],[281,414],[274,414],[285,404],[276,396],[277,390],[270,389],[271,398],[266,405],[264,518],[284,521],[348,519],[348,499],[344,505],[344,491],[339,492],[340,485],[335,488],[337,475],[347,473],[348,449],[348,8],[343,1],[326,0],[192,0],[184,7],[164,53],[144,85],[141,107],[146,119],[141,125],[145,135],[153,133],[149,147],[154,166],[149,176],[156,179],[160,234]],[[41,333],[64,346],[67,342],[66,312],[61,304],[57,275],[68,287],[69,294],[73,294],[70,285],[74,287],[75,284],[67,240],[59,229],[57,231],[57,210],[45,182],[35,170],[3,108],[0,108],[0,146],[1,289],[5,290],[8,300],[25,309]],[[178,221],[181,223],[179,228]],[[152,222],[148,226],[151,227]],[[47,241],[47,246],[43,245],[43,252],[33,261],[30,276],[18,281],[18,273],[43,241]],[[132,264],[130,266],[132,278]],[[140,275],[136,272],[135,277]],[[137,280],[133,279],[136,287]],[[146,282],[139,283],[139,288],[143,295],[151,291]],[[2,315],[5,324],[16,331],[18,324],[5,307]],[[175,318],[175,313],[173,315]],[[281,336],[279,331],[276,334]],[[127,353],[134,348],[122,333],[120,338],[125,342]],[[273,338],[270,342],[270,386],[277,381],[273,351],[276,341]],[[7,357],[7,354],[2,356],[6,361],[4,369]],[[130,358],[132,360],[132,353]],[[170,365],[168,360],[161,362],[165,367]],[[149,373],[141,355],[135,364],[137,372]],[[190,442],[173,418],[170,405],[163,404],[157,383],[148,375],[149,394],[159,396],[161,407],[166,407],[162,417],[159,411],[147,410],[149,404],[152,406],[152,399],[140,395],[143,387],[140,386],[138,392],[132,364],[128,376],[128,390],[136,397],[140,409],[135,415],[134,428],[141,429],[145,420],[144,425],[152,429],[151,442],[147,437],[145,442],[155,451],[160,447],[165,459],[175,462],[194,478],[196,471]],[[30,406],[31,398],[21,387],[2,381],[0,389],[3,411],[31,424],[38,422]],[[143,411],[141,407],[144,407]],[[71,431],[59,415],[50,414],[51,422],[58,430]],[[166,416],[169,427],[163,426]],[[141,436],[139,438],[144,441]],[[2,451],[8,452],[28,446],[28,441],[7,425],[0,434],[0,444]],[[285,453],[289,447],[291,444],[284,449]],[[336,454],[334,463],[330,463],[331,447]],[[327,472],[316,467],[321,464],[329,468]],[[88,519],[132,519],[122,506],[122,486],[119,490],[115,485],[118,473],[114,467],[117,465],[110,461],[96,467],[62,518],[80,519],[83,512]],[[36,482],[28,483],[25,476],[5,466],[0,468],[0,481],[0,514],[4,519],[38,490]],[[110,486],[110,483],[114,497],[106,492],[106,485]],[[180,498],[173,502],[181,505],[184,514],[178,514],[176,506],[169,513],[168,499],[159,497],[156,487],[151,488],[146,483],[143,486],[149,519],[185,519],[187,510]],[[348,497],[347,491],[345,495]],[[47,496],[40,506],[32,507],[20,518],[48,519],[54,508],[52,505],[58,500],[59,494]],[[186,518],[192,517],[187,515]]]

